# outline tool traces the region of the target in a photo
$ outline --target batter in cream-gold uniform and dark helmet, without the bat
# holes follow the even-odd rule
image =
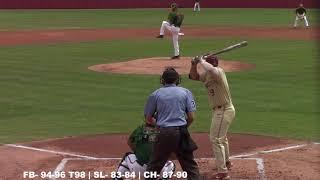
[[[205,70],[199,74],[197,65]],[[235,117],[230,89],[224,70],[218,67],[216,56],[195,57],[191,61],[189,78],[202,81],[208,91],[209,104],[212,108],[210,141],[216,158],[218,173],[215,179],[230,179],[228,170],[231,169],[229,142],[227,131]]]

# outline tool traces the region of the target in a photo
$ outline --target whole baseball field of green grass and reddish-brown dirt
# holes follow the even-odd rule
[[[168,65],[196,99],[191,132],[210,179],[211,110],[203,85],[188,80],[189,61],[244,40],[219,55],[236,108],[231,177],[319,179],[320,11],[296,29],[292,9],[180,11],[183,58],[172,61],[170,36],[155,38],[166,9],[1,10],[0,179],[115,170]]]

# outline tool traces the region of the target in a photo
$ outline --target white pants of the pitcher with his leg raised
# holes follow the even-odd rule
[[[175,27],[174,25],[170,25],[170,23],[167,21],[162,21],[161,28],[160,28],[160,35],[164,35],[165,30],[169,31],[172,35],[174,55],[179,56],[180,55],[180,49],[179,49],[180,28]]]

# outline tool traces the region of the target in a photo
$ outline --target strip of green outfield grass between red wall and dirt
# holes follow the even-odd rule
[[[292,26],[294,9],[181,9],[186,26]],[[319,26],[318,9],[308,10],[311,26]],[[0,30],[158,27],[166,9],[132,10],[0,10]]]

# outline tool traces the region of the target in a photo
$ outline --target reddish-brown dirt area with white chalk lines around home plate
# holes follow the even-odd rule
[[[192,134],[199,146],[195,157],[204,179],[212,178],[215,163],[207,133]],[[69,137],[0,147],[1,179],[31,179],[24,173],[66,174],[56,179],[110,179],[120,158],[129,151],[121,134]],[[265,136],[229,134],[232,179],[318,179],[320,146]],[[179,163],[177,172],[181,171]],[[72,172],[85,178],[75,178]],[[89,174],[90,172],[90,174]],[[94,178],[94,173],[102,174]],[[26,175],[26,174],[25,174]],[[29,175],[29,174],[28,174]],[[107,177],[108,175],[108,177]],[[73,178],[72,178],[73,177]],[[183,178],[182,178],[183,179]]]

